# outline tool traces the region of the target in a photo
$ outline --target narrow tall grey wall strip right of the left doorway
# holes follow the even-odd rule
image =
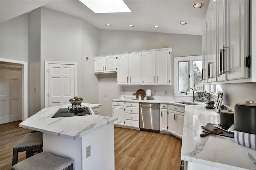
[[[41,9],[28,14],[28,69],[29,69],[29,116],[41,110],[40,107],[40,26]],[[36,88],[36,91],[34,91]]]

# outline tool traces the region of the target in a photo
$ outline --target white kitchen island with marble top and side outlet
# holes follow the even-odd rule
[[[52,116],[60,108],[44,108],[19,124],[20,127],[43,132],[43,150],[74,161],[75,170],[114,169],[114,117],[93,113],[98,104],[82,103],[92,115]],[[86,147],[90,146],[90,156]],[[87,158],[88,157],[88,158]]]

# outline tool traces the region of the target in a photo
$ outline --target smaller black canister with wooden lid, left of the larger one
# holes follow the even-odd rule
[[[232,110],[221,111],[220,126],[230,128],[234,124],[234,112]]]

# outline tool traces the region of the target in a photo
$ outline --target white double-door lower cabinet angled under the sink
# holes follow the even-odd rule
[[[185,107],[168,106],[168,132],[182,138]]]

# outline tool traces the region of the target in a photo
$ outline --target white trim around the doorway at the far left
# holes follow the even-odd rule
[[[28,62],[0,58],[0,61],[22,64],[22,121],[28,119]]]

